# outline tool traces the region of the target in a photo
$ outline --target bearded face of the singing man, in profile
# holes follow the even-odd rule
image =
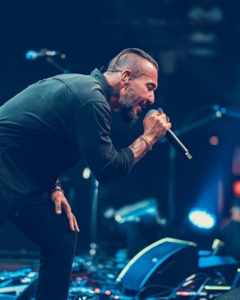
[[[149,64],[144,68],[143,74],[132,79],[126,87],[121,104],[121,115],[126,124],[133,125],[139,118],[142,109],[148,104],[154,104],[154,90],[157,87],[157,71],[155,66]]]

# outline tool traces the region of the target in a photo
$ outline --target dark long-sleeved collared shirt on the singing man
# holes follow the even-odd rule
[[[109,137],[109,96],[95,69],[91,76],[40,80],[1,106],[0,191],[10,206],[53,184],[81,158],[102,183],[131,171],[133,152],[116,151]]]

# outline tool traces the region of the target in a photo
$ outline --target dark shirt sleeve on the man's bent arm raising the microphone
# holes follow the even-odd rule
[[[109,136],[110,128],[111,111],[104,101],[84,104],[74,126],[74,139],[81,155],[101,183],[126,176],[134,164],[131,149],[114,149]]]

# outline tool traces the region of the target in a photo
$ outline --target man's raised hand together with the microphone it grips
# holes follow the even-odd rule
[[[146,113],[144,118],[143,136],[146,136],[151,145],[155,144],[156,141],[165,135],[166,139],[172,146],[174,146],[181,156],[184,156],[187,159],[192,159],[191,154],[189,154],[189,150],[186,149],[184,144],[181,143],[170,128],[171,123],[169,123],[169,117],[164,114],[164,111],[161,108],[157,110],[151,109]]]

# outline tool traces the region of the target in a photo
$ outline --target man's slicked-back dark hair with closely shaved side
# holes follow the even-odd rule
[[[159,66],[155,59],[153,59],[143,50],[137,48],[128,48],[121,51],[117,56],[114,57],[114,59],[109,62],[109,66],[106,71],[116,72],[122,71],[124,69],[130,69],[134,73],[135,77],[140,76],[143,69],[142,61],[141,59],[138,59],[136,55],[131,54],[136,54],[137,56],[150,61],[151,64],[156,67],[157,71],[159,71]]]

